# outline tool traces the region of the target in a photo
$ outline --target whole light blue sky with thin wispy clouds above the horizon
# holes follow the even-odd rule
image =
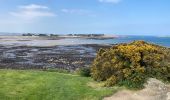
[[[170,35],[170,0],[0,0],[0,32]]]

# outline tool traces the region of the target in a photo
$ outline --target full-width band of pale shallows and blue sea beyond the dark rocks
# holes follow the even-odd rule
[[[49,40],[39,37],[0,37],[0,45],[4,46],[55,46],[55,45],[78,45],[78,44],[117,44],[132,42],[134,40],[145,40],[154,44],[170,47],[170,37],[155,36],[126,36],[115,39],[85,39],[66,38],[59,40]],[[22,41],[21,41],[22,40]]]

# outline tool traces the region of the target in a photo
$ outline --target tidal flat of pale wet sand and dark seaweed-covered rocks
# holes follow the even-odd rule
[[[5,36],[0,38],[0,68],[48,69],[74,71],[90,66],[103,44],[63,43],[61,38]],[[36,42],[35,42],[36,41]],[[34,44],[32,44],[34,43]]]

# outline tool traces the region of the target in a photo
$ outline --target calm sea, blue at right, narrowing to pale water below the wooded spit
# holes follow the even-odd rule
[[[115,39],[65,39],[65,42],[71,42],[73,44],[118,44],[128,43],[134,40],[144,40],[150,43],[158,44],[161,46],[170,47],[170,37],[155,37],[155,36],[127,36],[119,37]]]

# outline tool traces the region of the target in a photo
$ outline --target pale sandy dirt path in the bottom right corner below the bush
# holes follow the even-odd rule
[[[143,90],[122,90],[104,100],[170,100],[170,85],[151,78]]]

